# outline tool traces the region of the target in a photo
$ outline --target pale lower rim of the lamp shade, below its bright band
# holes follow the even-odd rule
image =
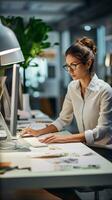
[[[20,63],[24,61],[23,53],[21,49],[0,56],[0,66],[11,65],[15,63]]]

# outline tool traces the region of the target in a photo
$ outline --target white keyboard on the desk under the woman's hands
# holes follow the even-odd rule
[[[26,138],[18,138],[18,141],[23,144],[25,147],[46,147],[48,146],[45,143],[42,143],[36,137],[26,137]]]

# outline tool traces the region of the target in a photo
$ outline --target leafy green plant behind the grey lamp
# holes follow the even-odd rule
[[[41,19],[30,18],[27,23],[21,17],[1,17],[4,25],[11,28],[19,41],[25,61],[23,67],[23,92],[27,92],[25,85],[25,69],[29,66],[32,58],[40,55],[44,49],[49,48],[48,33],[52,28]],[[55,43],[54,45],[56,45]],[[37,66],[37,65],[35,65]]]

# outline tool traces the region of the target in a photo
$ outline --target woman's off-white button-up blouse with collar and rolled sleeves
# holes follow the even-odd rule
[[[112,134],[112,88],[96,74],[89,83],[84,99],[79,80],[68,85],[62,111],[52,123],[60,131],[69,125],[75,116],[79,133],[85,133],[88,144]]]

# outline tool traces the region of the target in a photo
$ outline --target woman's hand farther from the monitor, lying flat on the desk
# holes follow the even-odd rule
[[[70,136],[68,135],[59,135],[59,134],[52,134],[44,139],[40,139],[39,141],[40,142],[43,142],[43,143],[47,143],[47,144],[50,144],[50,143],[66,143],[66,142],[69,142],[69,138]]]

